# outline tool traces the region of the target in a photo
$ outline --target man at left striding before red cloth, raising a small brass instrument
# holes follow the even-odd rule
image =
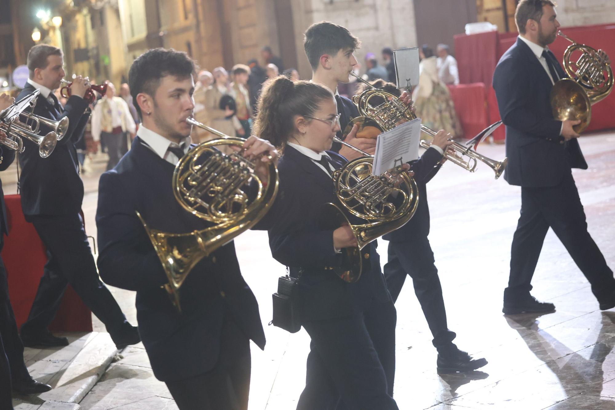
[[[24,140],[25,151],[19,157],[23,213],[47,247],[48,257],[21,336],[25,346],[68,345],[66,337],[56,337],[47,328],[54,320],[66,286],[71,284],[105,324],[116,346],[124,348],[140,341],[137,328],[128,323],[111,292],[98,278],[79,213],[84,189],[75,143],[82,137],[89,118],[88,103],[83,98],[89,83],[81,77],[74,79],[72,96],[62,107],[53,94],[65,75],[62,66],[62,50],[45,44],[32,47],[28,53],[30,79],[18,97],[40,89],[34,114],[52,120],[68,117],[70,121],[68,132],[48,158],[41,158],[38,146],[30,140]],[[41,132],[49,131],[49,127],[41,125]]]

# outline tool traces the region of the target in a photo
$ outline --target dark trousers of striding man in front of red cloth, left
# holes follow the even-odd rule
[[[71,284],[113,338],[127,325],[124,313],[109,289],[98,278],[81,215],[28,215],[28,222],[47,247],[47,263],[22,333],[47,331],[54,320],[66,286]]]

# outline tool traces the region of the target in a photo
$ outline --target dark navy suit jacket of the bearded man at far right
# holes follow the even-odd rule
[[[549,58],[560,78],[565,78],[566,73],[550,51]],[[506,124],[508,166],[504,179],[510,185],[553,187],[570,174],[571,167],[587,169],[579,142],[571,139],[563,143],[561,121],[554,119],[549,102],[553,84],[521,39],[499,60],[493,87]]]

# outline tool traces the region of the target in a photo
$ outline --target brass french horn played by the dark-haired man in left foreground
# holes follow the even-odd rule
[[[186,122],[220,139],[200,143],[180,159],[173,172],[173,192],[186,211],[213,225],[190,233],[167,233],[149,228],[137,211],[169,279],[164,289],[180,312],[179,290],[188,273],[201,259],[258,223],[273,204],[278,188],[273,161],[267,167],[267,180],[261,180],[255,173],[256,160],[245,158],[243,150],[226,155],[217,149],[222,145],[242,147],[245,139],[229,137],[192,118]],[[256,183],[256,196],[248,203],[244,188],[251,181]]]

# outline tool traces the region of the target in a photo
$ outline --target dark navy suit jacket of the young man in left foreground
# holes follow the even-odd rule
[[[180,288],[178,313],[161,286],[161,262],[135,211],[149,228],[188,233],[208,227],[175,200],[175,166],[137,137],[130,151],[100,177],[98,188],[98,269],[111,286],[137,291],[139,333],[157,379],[172,382],[216,365],[224,316],[231,315],[261,348],[265,337],[258,303],[239,270],[234,243],[197,263]]]

